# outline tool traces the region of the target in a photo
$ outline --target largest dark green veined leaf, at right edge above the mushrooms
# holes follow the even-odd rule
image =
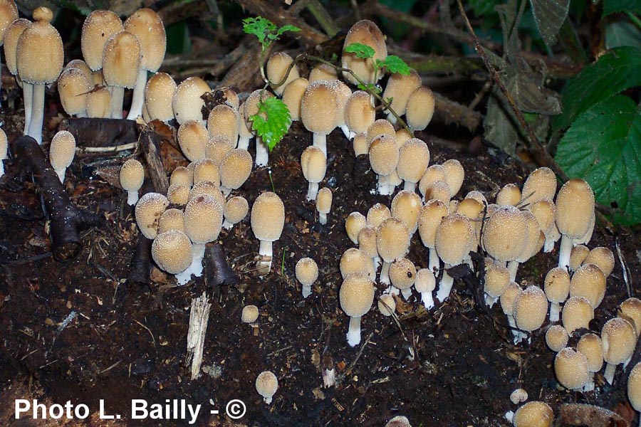
[[[583,112],[558,144],[556,162],[570,177],[588,181],[613,220],[641,222],[641,112],[614,95]]]

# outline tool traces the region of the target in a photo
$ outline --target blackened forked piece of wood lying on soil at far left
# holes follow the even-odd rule
[[[83,248],[80,231],[98,226],[101,216],[81,211],[71,203],[58,174],[49,164],[44,152],[32,137],[19,137],[11,143],[15,162],[23,173],[31,172],[33,181],[40,190],[43,211],[51,221],[49,233],[51,252],[58,261],[78,256]]]

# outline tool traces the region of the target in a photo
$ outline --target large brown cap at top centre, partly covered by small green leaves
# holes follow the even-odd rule
[[[352,43],[362,43],[374,49],[374,56],[370,58],[358,58],[355,53],[345,52],[345,48]],[[343,44],[343,56],[341,58],[341,65],[343,68],[349,68],[358,75],[360,80],[365,84],[376,83],[377,78],[381,78],[381,73],[376,75],[374,69],[375,60],[384,60],[387,57],[387,46],[385,46],[385,36],[372,21],[363,19],[355,23],[347,36],[345,36],[345,44]],[[353,85],[358,84],[358,80],[350,73],[343,73],[343,78]]]

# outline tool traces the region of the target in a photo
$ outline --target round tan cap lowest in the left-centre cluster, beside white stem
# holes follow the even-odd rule
[[[152,258],[167,273],[182,273],[192,263],[192,242],[182,231],[165,231],[154,238]]]

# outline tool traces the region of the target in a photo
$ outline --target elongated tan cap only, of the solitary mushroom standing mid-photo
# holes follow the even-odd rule
[[[273,242],[281,238],[285,226],[285,205],[277,194],[265,191],[251,206],[251,231],[260,241]]]

